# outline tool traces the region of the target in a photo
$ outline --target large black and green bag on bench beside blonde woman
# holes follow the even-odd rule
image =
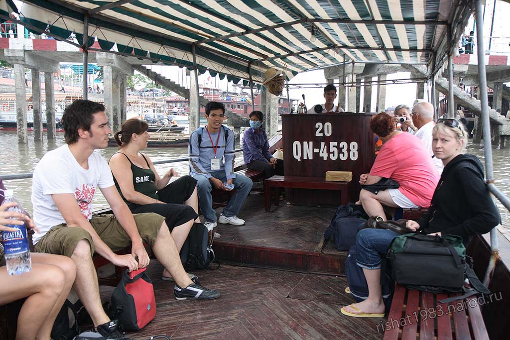
[[[490,294],[471,268],[462,238],[454,235],[404,234],[393,239],[387,257],[392,277],[399,284],[425,292],[466,293],[442,300],[450,302],[477,293]],[[469,279],[473,289],[464,285]]]

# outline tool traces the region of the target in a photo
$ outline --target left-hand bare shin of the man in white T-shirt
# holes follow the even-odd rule
[[[108,318],[103,305],[101,305],[97,273],[90,256],[89,242],[87,240],[78,242],[71,258],[79,269],[74,281],[74,290],[89,313],[94,327],[109,322],[110,318]]]

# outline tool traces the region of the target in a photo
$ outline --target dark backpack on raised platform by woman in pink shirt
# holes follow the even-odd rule
[[[356,234],[360,225],[368,219],[361,205],[347,203],[340,205],[324,232],[324,239],[333,234],[335,248],[339,251],[348,250],[356,243]]]

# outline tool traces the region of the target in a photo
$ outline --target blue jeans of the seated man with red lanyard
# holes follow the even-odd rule
[[[226,182],[225,171],[211,171],[210,174],[214,178],[218,178],[222,182]],[[208,222],[216,222],[216,212],[213,209],[213,197],[211,196],[212,185],[209,179],[204,175],[193,175],[197,180],[196,190],[198,193],[198,203],[200,204],[200,211],[203,217]],[[246,176],[236,175],[234,178],[234,195],[227,206],[223,208],[223,215],[225,217],[235,216],[241,210],[244,200],[248,196],[253,182]]]

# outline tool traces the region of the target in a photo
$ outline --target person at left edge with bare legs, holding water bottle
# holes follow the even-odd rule
[[[0,231],[17,232],[18,227],[36,228],[28,214],[13,211],[19,203],[4,202],[8,191],[0,178]],[[9,193],[10,194],[10,193]],[[10,195],[12,196],[12,195]],[[53,323],[76,275],[76,266],[65,256],[30,253],[31,268],[21,274],[7,271],[4,247],[0,245],[0,305],[27,298],[18,315],[16,339],[49,339]]]

